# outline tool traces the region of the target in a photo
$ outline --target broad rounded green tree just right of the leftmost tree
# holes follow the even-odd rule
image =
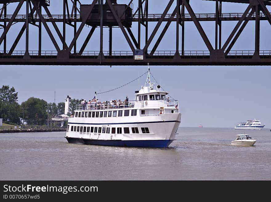
[[[30,97],[27,101],[22,102],[21,107],[27,108],[24,116],[28,125],[44,125],[47,120],[46,104],[45,100],[35,97]]]

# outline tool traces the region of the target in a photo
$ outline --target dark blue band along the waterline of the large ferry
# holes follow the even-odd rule
[[[173,140],[90,140],[74,137],[66,139],[69,143],[76,144],[146,148],[166,148],[173,142]]]

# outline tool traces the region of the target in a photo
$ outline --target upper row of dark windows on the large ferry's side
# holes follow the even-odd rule
[[[124,113],[123,113],[124,111]],[[114,111],[97,111],[97,112],[75,112],[75,117],[122,117],[124,114],[124,117],[129,116],[131,111],[131,116],[136,116],[136,111],[137,109],[132,109],[132,110],[114,110]]]

